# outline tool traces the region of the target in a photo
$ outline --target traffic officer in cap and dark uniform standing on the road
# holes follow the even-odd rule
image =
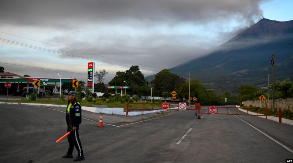
[[[81,104],[75,97],[76,93],[74,91],[68,92],[66,123],[67,132],[71,131],[71,133],[67,136],[69,142],[67,154],[62,156],[62,158],[73,158],[72,152],[75,146],[78,151],[78,156],[73,161],[81,161],[85,159],[78,135],[79,124],[81,123]]]

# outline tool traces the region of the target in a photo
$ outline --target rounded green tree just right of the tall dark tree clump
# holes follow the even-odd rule
[[[151,81],[153,85],[154,95],[162,96],[163,92],[172,92],[177,90],[181,84],[184,83],[184,79],[178,75],[171,73],[169,70],[161,70]]]

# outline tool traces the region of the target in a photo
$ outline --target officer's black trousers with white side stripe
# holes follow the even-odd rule
[[[71,126],[72,125],[70,123],[67,125],[67,132],[72,130]],[[82,146],[81,146],[81,142],[79,140],[79,135],[78,135],[78,129],[79,127],[77,127],[75,131],[71,131],[71,133],[67,136],[68,143],[69,143],[67,154],[72,154],[74,146],[75,146],[76,150],[78,151],[78,156],[83,156]]]

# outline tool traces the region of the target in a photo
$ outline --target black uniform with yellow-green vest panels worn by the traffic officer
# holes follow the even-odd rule
[[[66,123],[67,132],[71,133],[67,136],[69,142],[68,155],[72,155],[73,148],[78,151],[78,157],[83,156],[81,142],[79,140],[78,129],[81,123],[81,104],[76,99],[73,102],[68,101],[66,109]],[[72,131],[72,127],[76,127],[75,131]]]

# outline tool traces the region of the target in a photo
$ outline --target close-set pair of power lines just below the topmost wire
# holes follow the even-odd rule
[[[93,58],[89,58],[89,57],[82,57],[82,56],[71,54],[71,53],[65,53],[65,52],[61,52],[61,51],[57,51],[57,50],[46,49],[46,48],[42,48],[42,47],[30,45],[30,44],[20,43],[20,42],[16,42],[16,41],[12,41],[12,40],[6,40],[3,38],[0,38],[0,41],[5,42],[5,43],[14,44],[14,45],[23,46],[23,47],[29,47],[29,48],[33,48],[33,49],[37,49],[37,50],[43,50],[43,51],[47,51],[47,52],[51,52],[51,53],[56,53],[56,54],[61,54],[61,55],[66,55],[66,56],[71,56],[71,57],[77,57],[77,58],[81,58],[81,59],[85,59],[85,60],[94,60],[94,61],[103,62],[103,63],[107,63],[107,64],[114,64],[114,65],[123,66],[123,67],[130,67],[129,65],[126,65],[126,64],[119,64],[119,63],[110,62],[110,61],[97,60],[97,59],[93,59]],[[148,69],[148,68],[140,68],[140,69],[158,72],[157,70],[152,70],[152,69]]]

